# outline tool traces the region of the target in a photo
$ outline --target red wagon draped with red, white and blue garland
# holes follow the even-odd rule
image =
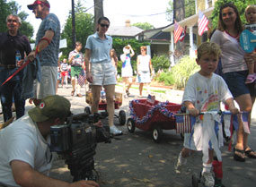
[[[130,117],[128,118],[128,132],[134,132],[135,128],[153,132],[155,142],[160,142],[163,130],[176,129],[175,114],[181,109],[180,104],[171,102],[136,99],[130,101]]]

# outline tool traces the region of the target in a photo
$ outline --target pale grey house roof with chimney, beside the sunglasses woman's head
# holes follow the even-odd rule
[[[142,31],[135,26],[110,26],[106,34],[110,36],[135,37]]]

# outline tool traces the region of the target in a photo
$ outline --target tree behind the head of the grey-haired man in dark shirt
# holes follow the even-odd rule
[[[22,27],[19,29],[20,33],[26,35],[29,39],[33,36],[33,27],[30,22],[25,21],[28,17],[28,13],[18,11],[21,9],[21,6],[14,1],[6,3],[5,0],[0,0],[0,31],[6,31],[6,17],[9,14],[18,14],[18,16],[22,19]]]

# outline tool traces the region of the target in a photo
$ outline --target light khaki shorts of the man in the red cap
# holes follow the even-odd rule
[[[41,66],[41,81],[34,81],[34,98],[42,99],[56,94],[57,67]]]

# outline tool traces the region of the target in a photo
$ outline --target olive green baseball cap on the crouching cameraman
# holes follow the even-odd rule
[[[70,114],[70,102],[58,95],[43,98],[39,106],[29,110],[34,122],[44,122],[52,118],[63,118]]]

